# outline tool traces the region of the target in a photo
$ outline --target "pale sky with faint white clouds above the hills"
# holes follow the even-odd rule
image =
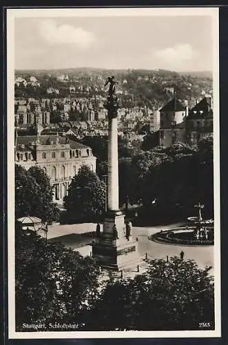
[[[213,70],[212,18],[15,18],[14,67]]]

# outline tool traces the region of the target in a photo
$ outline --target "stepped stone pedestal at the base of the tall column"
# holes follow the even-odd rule
[[[122,270],[140,262],[137,242],[126,238],[125,216],[121,211],[109,211],[103,224],[103,233],[92,246],[92,256],[103,268]],[[116,235],[114,233],[116,226]]]

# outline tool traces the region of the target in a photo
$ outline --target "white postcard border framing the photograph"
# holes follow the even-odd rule
[[[7,164],[8,164],[8,337],[9,339],[82,339],[82,338],[179,338],[220,337],[220,139],[219,139],[219,40],[218,8],[8,8],[7,9]],[[16,332],[14,267],[14,19],[19,17],[134,17],[134,16],[211,16],[214,25],[214,331],[114,331],[114,332]]]

